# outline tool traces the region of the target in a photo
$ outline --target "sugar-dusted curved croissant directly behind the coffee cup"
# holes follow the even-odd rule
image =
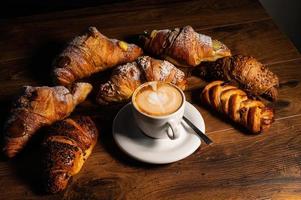
[[[137,62],[127,63],[114,69],[110,80],[100,86],[97,102],[108,104],[128,100],[136,88],[146,81],[170,82],[185,89],[184,72],[168,61],[141,56]]]

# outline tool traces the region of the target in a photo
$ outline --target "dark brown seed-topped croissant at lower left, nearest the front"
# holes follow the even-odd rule
[[[92,153],[98,131],[90,117],[68,118],[54,124],[43,142],[45,190],[64,190]]]

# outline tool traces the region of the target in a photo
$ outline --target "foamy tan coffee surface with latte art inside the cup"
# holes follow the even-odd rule
[[[183,97],[179,89],[170,84],[150,82],[136,92],[133,103],[142,113],[164,116],[176,112]]]

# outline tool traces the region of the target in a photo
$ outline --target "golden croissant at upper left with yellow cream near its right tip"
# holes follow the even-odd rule
[[[55,59],[54,79],[61,85],[69,85],[93,73],[132,62],[142,53],[137,45],[109,39],[95,27],[89,27],[87,33],[74,38]]]

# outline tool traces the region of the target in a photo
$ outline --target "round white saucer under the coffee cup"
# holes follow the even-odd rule
[[[201,144],[199,136],[187,125],[176,140],[150,138],[137,127],[131,110],[125,105],[113,122],[113,137],[117,145],[129,156],[147,163],[172,163],[191,155]],[[186,102],[185,114],[199,129],[205,132],[205,123],[199,111]]]

